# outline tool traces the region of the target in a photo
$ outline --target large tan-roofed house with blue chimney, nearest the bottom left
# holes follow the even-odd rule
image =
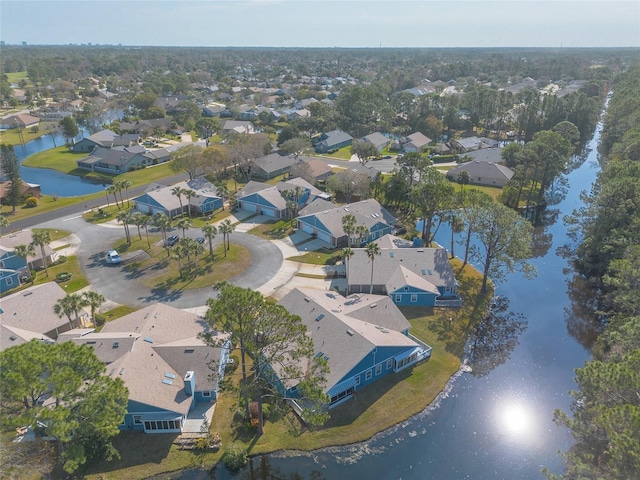
[[[199,335],[205,332],[220,346],[201,340]],[[107,375],[122,379],[129,390],[121,430],[194,431],[188,428],[193,413],[201,411],[199,405],[206,408],[217,400],[229,335],[209,331],[196,314],[156,303],[108,322],[99,333],[73,333],[64,339],[92,347],[106,364]],[[215,365],[215,372],[210,365]],[[197,417],[195,432],[202,425],[202,414]]]

